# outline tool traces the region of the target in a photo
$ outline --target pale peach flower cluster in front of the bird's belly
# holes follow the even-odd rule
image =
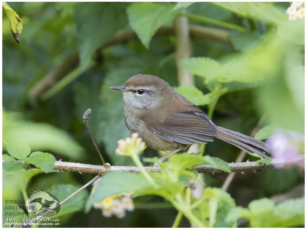
[[[145,142],[138,137],[136,132],[125,140],[119,140],[117,144],[118,148],[115,150],[115,153],[123,156],[131,156],[134,153],[142,154],[146,148]]]

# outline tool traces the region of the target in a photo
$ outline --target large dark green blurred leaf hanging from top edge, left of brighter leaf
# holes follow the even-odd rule
[[[118,4],[118,2],[78,2],[74,4],[81,64],[92,58],[96,49],[111,39],[116,31],[124,28],[127,23],[126,5],[126,3]]]

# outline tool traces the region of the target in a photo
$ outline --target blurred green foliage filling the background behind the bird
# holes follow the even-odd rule
[[[130,158],[114,153],[117,141],[130,136],[130,132],[123,121],[122,95],[109,87],[121,85],[139,73],[156,75],[171,86],[179,84],[174,33],[164,29],[152,39],[142,37],[146,33],[153,35],[154,26],[172,26],[173,20],[154,21],[150,31],[142,32],[141,28],[140,32],[134,25],[140,20],[134,18],[138,14],[133,11],[152,12],[161,6],[168,10],[175,5],[150,3],[147,9],[137,4],[142,3],[9,2],[21,18],[23,30],[17,44],[2,10],[5,142],[24,141],[31,151],[50,152],[57,160],[101,164],[82,120],[84,111],[91,108],[89,126],[106,162],[133,165]],[[182,6],[174,15],[185,12],[216,20],[209,23],[210,20],[189,17],[191,25],[205,31],[212,29],[215,35],[192,36],[192,57],[208,57],[222,64],[239,63],[262,76],[257,83],[227,82],[227,93],[220,97],[213,112],[215,124],[249,135],[266,115],[263,126],[303,133],[304,19],[290,25],[285,14],[289,2],[266,4],[267,8],[256,5],[252,11],[240,3],[219,6],[197,2]],[[228,28],[225,23],[241,29]],[[122,34],[116,33],[118,30]],[[219,37],[219,32],[226,36]],[[114,39],[115,35],[120,39]],[[209,92],[202,76],[196,74],[194,80],[204,94]],[[200,107],[208,112],[207,105]],[[217,139],[206,146],[206,154],[227,162],[235,161],[239,151]],[[143,155],[153,157],[157,153],[146,149]],[[247,159],[256,158],[248,155]],[[205,174],[204,178],[207,186],[220,187],[226,176]],[[59,184],[80,187],[93,177],[74,172],[38,174],[30,180],[27,191],[50,190]],[[16,183],[4,175],[3,199],[22,199]],[[298,167],[282,168],[237,174],[228,192],[237,205],[246,206],[254,199],[284,193],[303,183],[304,174]],[[155,201],[163,200],[153,196],[135,199],[136,210],[123,219],[105,218],[96,209],[84,214],[81,209],[62,216],[60,227],[170,227],[177,211],[146,209],[146,202]],[[184,219],[180,227],[189,227],[188,221]]]

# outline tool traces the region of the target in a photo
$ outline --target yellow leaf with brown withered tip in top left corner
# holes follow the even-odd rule
[[[11,32],[17,43],[19,43],[19,34],[21,34],[22,23],[18,14],[6,3],[2,2],[2,6],[10,21]]]

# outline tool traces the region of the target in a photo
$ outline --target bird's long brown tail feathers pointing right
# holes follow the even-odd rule
[[[273,153],[273,149],[268,144],[263,143],[262,141],[251,136],[247,136],[220,126],[217,126],[216,130],[216,138],[233,144],[248,153],[256,153],[266,159],[269,159],[269,157],[263,152],[268,152],[270,154]]]

